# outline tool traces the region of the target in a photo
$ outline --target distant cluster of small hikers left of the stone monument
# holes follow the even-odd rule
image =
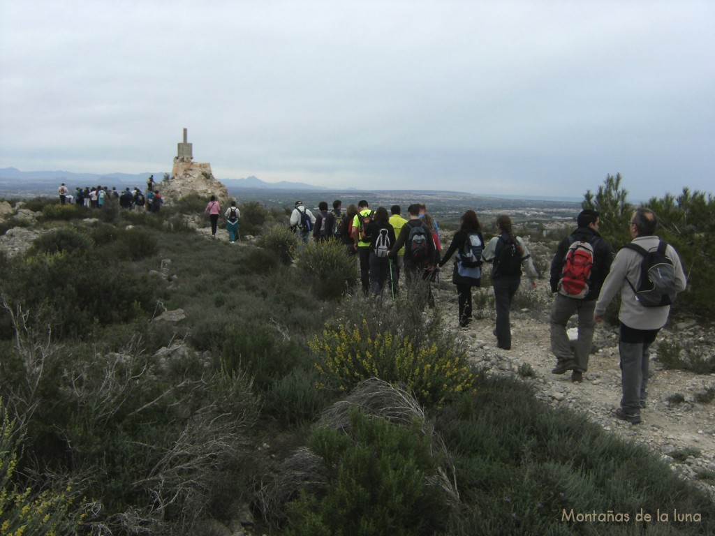
[[[147,179],[147,189],[142,192],[137,187],[119,193],[117,187],[109,189],[107,186],[77,187],[74,194],[69,192],[64,182],[57,189],[60,204],[77,204],[77,207],[101,209],[104,204],[112,199],[119,200],[119,207],[126,210],[144,209],[147,212],[159,212],[164,203],[161,192],[154,188],[154,175]]]

